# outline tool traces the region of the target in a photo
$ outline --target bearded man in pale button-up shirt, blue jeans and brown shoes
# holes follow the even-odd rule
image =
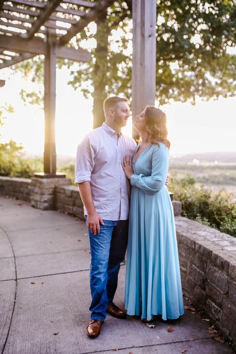
[[[128,100],[111,97],[104,101],[106,122],[90,132],[78,146],[75,183],[85,207],[91,249],[91,321],[89,337],[97,337],[106,313],[124,319],[113,298],[120,262],[128,236],[130,186],[121,161],[132,157],[134,139],[121,133],[129,118]]]

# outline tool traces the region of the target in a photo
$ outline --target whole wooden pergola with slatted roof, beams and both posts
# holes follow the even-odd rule
[[[68,43],[113,2],[0,0],[0,69],[35,55],[45,57],[44,173],[41,177],[60,177],[56,174],[55,145],[56,60],[87,62],[91,59],[88,51],[75,49]],[[132,16],[132,114],[135,117],[145,105],[155,102],[156,0],[132,0]]]

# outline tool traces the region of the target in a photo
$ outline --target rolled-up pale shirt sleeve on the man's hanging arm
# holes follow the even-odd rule
[[[78,145],[75,163],[75,183],[90,182],[94,168],[95,149],[88,136]]]

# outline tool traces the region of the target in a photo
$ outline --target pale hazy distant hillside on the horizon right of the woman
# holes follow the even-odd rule
[[[188,163],[188,162],[219,162],[236,163],[236,152],[199,152],[194,154],[172,155],[170,163]]]

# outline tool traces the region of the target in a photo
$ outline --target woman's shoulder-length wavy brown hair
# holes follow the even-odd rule
[[[167,139],[168,130],[166,127],[166,115],[159,108],[147,106],[145,110],[147,141],[152,144],[163,142],[168,149],[170,141]]]

